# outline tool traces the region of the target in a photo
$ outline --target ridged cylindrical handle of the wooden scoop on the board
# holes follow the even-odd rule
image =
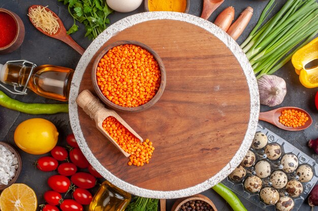
[[[84,90],[83,92],[81,92],[76,98],[76,103],[92,119],[97,115],[99,111],[106,109],[104,105],[99,101],[99,99],[96,98],[89,90]]]

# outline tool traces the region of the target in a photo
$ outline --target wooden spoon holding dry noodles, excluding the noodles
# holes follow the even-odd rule
[[[33,5],[33,6],[29,7],[28,12],[31,13],[31,10],[32,10],[32,9],[36,9],[37,7],[44,8],[44,7],[41,6],[41,5]],[[56,33],[54,33],[54,34],[49,34],[49,33],[45,32],[45,31],[43,31],[41,28],[36,27],[36,26],[34,25],[34,23],[32,22],[32,19],[29,17],[31,23],[32,23],[39,31],[41,31],[41,32],[44,33],[45,35],[63,41],[64,43],[68,44],[68,45],[71,46],[73,49],[75,49],[80,55],[83,55],[83,53],[84,53],[85,50],[84,50],[82,47],[80,47],[80,46],[72,39],[72,37],[71,37],[70,35],[68,35],[68,34],[66,33],[66,29],[65,29],[65,27],[64,27],[64,25],[63,25],[61,19],[59,19],[59,17],[58,17],[53,11],[49,10],[48,8],[45,8],[45,10],[48,11],[48,12],[51,12],[51,13],[53,14],[53,16],[54,16],[55,18],[57,18],[57,22],[58,22],[58,24],[59,24],[59,28],[57,29]]]

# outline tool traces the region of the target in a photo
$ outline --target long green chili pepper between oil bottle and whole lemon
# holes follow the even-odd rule
[[[53,114],[53,113],[68,113],[68,104],[41,104],[41,103],[22,103],[14,100],[0,91],[0,105],[12,110],[20,111],[28,114]]]

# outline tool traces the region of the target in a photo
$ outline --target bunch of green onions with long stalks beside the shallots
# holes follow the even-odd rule
[[[264,23],[274,3],[275,0],[269,1],[257,25],[241,45],[257,78],[277,71],[318,32],[316,0],[288,0]]]

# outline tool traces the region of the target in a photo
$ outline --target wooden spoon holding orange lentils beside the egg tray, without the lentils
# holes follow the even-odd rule
[[[305,122],[305,125],[298,126],[297,128],[293,128],[291,126],[285,126],[282,123],[280,123],[279,116],[281,115],[281,112],[283,110],[288,110],[288,109],[291,109],[291,110],[295,109],[295,110],[298,110],[300,112],[307,114],[308,120]],[[263,121],[267,121],[271,124],[274,124],[278,128],[283,129],[283,130],[287,130],[287,131],[301,131],[301,130],[308,128],[310,126],[310,124],[312,123],[312,118],[309,115],[309,113],[307,113],[305,110],[303,110],[301,108],[297,108],[297,107],[281,107],[281,108],[277,108],[277,109],[274,109],[271,111],[261,112],[259,119],[263,120]]]

